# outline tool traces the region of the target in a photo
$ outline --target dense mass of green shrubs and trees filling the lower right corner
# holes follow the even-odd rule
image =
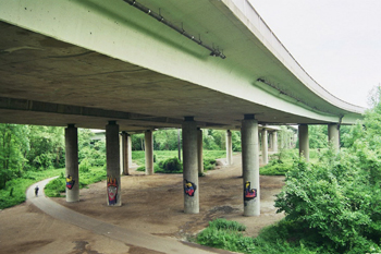
[[[253,240],[255,253],[381,252],[380,94],[364,121],[345,130],[346,149],[322,148],[314,162],[294,159],[275,199],[285,218]]]

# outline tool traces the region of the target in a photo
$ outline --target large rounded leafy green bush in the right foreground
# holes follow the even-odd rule
[[[381,155],[366,145],[356,155],[325,153],[316,165],[294,164],[275,207],[310,243],[335,253],[369,252],[381,238]]]

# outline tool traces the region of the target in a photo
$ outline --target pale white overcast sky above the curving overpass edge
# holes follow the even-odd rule
[[[312,78],[368,107],[381,84],[381,0],[249,0]]]

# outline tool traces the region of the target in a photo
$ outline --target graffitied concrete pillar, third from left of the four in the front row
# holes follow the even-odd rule
[[[197,124],[193,117],[185,117],[183,122],[183,184],[184,213],[199,213]]]

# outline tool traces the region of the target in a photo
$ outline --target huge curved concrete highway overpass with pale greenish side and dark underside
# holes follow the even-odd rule
[[[195,185],[197,128],[242,130],[245,185],[258,124],[339,130],[364,111],[317,84],[246,0],[2,0],[0,21],[0,122],[107,129],[110,149],[120,131],[183,128]]]

